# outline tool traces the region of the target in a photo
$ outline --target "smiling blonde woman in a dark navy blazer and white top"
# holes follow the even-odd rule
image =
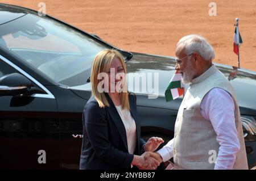
[[[106,49],[92,63],[92,97],[82,114],[80,169],[155,169],[148,157],[162,138],[141,139],[136,96],[127,92],[126,65],[117,50]],[[141,153],[143,153],[141,155]]]

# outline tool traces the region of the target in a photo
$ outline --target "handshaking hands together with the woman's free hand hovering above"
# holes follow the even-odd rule
[[[142,155],[134,155],[132,165],[135,165],[140,170],[155,170],[156,167],[163,162],[162,157],[155,151],[160,144],[164,141],[159,137],[151,137],[144,145],[144,151]]]

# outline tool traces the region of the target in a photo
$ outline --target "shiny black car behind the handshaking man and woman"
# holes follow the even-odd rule
[[[168,103],[164,98],[174,74],[174,57],[126,52],[51,16],[0,4],[0,169],[79,168],[82,110],[91,95],[90,66],[106,48],[117,49],[125,57],[127,77],[136,74],[141,82],[139,89],[129,85],[129,90],[137,94],[142,136],[166,141],[174,136],[182,98]],[[233,71],[215,65],[226,77]],[[149,83],[158,78],[159,90],[143,90],[142,73]],[[252,167],[256,163],[256,72],[239,69],[230,82]]]

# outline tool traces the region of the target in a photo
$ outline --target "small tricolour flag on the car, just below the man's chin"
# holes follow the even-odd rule
[[[166,89],[166,92],[164,93],[164,95],[166,96],[166,102],[179,98],[179,96],[183,95],[183,92],[184,89],[181,83],[181,73],[176,70]]]

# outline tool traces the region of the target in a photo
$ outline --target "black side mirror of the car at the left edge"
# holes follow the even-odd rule
[[[0,96],[24,94],[31,87],[30,79],[19,73],[7,74],[0,78]]]

